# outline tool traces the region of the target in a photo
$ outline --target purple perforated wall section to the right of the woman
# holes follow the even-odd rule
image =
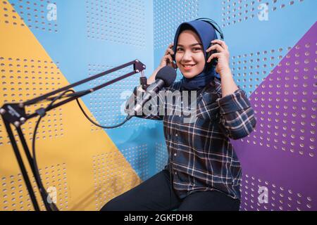
[[[250,96],[256,129],[232,141],[242,162],[241,210],[317,210],[316,37],[317,23]]]

